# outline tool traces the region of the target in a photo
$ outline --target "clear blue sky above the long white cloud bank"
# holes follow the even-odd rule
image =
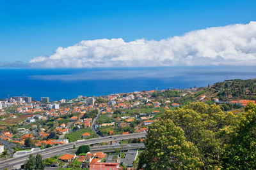
[[[81,40],[161,40],[256,20],[253,0],[0,0],[0,62],[28,62]]]

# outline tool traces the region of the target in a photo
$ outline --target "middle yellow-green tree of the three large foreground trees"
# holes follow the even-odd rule
[[[161,120],[171,119],[186,140],[198,148],[205,169],[220,168],[221,148],[229,141],[228,133],[237,125],[233,113],[223,113],[216,104],[189,103],[177,110],[166,110]]]

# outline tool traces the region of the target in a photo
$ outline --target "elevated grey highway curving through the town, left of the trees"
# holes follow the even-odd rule
[[[93,138],[93,139],[86,139],[81,141],[76,141],[72,143],[67,143],[64,145],[58,145],[58,146],[52,146],[51,148],[45,148],[45,150],[40,150],[39,152],[32,153],[32,155],[36,155],[37,153],[40,153],[43,157],[47,157],[47,155],[57,154],[62,152],[63,150],[68,150],[73,147],[73,145],[81,146],[81,145],[92,145],[96,143],[103,143],[103,142],[109,142],[109,141],[119,141],[124,139],[134,139],[134,138],[145,138],[146,132],[140,132],[140,133],[134,133],[134,134],[123,134],[118,136],[106,136],[101,138]],[[29,155],[24,155],[21,157],[15,157],[8,160],[3,160],[0,162],[0,168],[4,169],[12,168],[13,166],[17,164],[22,164],[25,162],[26,159],[28,159]],[[50,156],[51,157],[51,156]]]

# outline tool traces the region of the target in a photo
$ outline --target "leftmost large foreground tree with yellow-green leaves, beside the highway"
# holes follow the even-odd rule
[[[204,165],[196,146],[186,141],[184,131],[170,119],[150,125],[139,159],[139,169],[200,169]]]

